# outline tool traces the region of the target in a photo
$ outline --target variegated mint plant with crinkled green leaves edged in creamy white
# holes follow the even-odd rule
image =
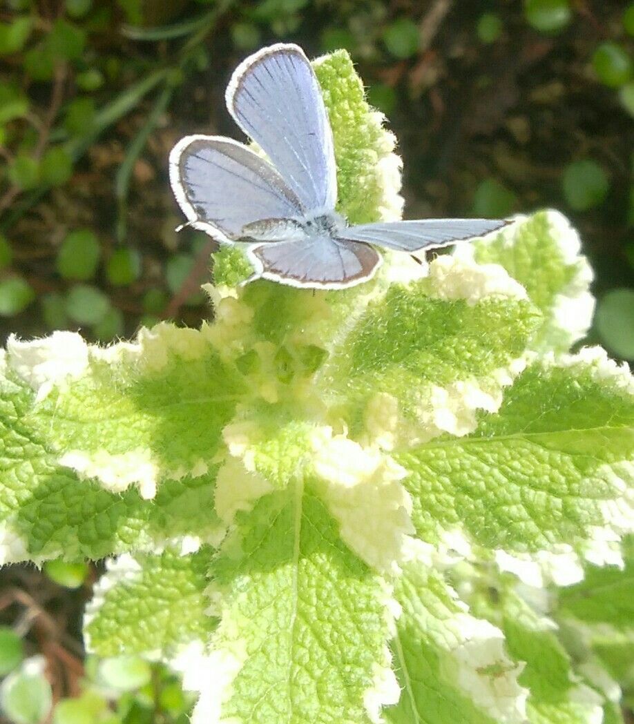
[[[349,56],[315,70],[338,210],[399,218]],[[194,724],[622,720],[634,382],[570,353],[593,299],[566,219],[343,291],[250,274],[216,254],[199,329],[9,339],[4,562],[109,557],[86,647],[170,662]]]

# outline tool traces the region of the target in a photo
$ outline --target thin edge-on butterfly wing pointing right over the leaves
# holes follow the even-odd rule
[[[340,236],[395,251],[414,252],[480,237],[501,229],[508,223],[500,219],[421,219],[359,224],[343,229]]]

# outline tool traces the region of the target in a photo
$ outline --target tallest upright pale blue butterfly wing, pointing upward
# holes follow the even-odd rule
[[[304,211],[333,211],[333,133],[304,51],[278,43],[249,56],[233,73],[226,101],[235,122],[271,159]]]

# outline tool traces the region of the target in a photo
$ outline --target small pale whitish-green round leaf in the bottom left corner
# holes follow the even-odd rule
[[[33,657],[0,685],[0,710],[13,724],[41,724],[51,710],[51,685],[43,657]]]

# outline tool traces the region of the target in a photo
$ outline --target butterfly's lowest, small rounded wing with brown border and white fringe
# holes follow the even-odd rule
[[[306,235],[301,243],[254,245],[248,254],[259,269],[258,277],[309,289],[353,287],[370,279],[381,262],[371,246],[325,234]]]

